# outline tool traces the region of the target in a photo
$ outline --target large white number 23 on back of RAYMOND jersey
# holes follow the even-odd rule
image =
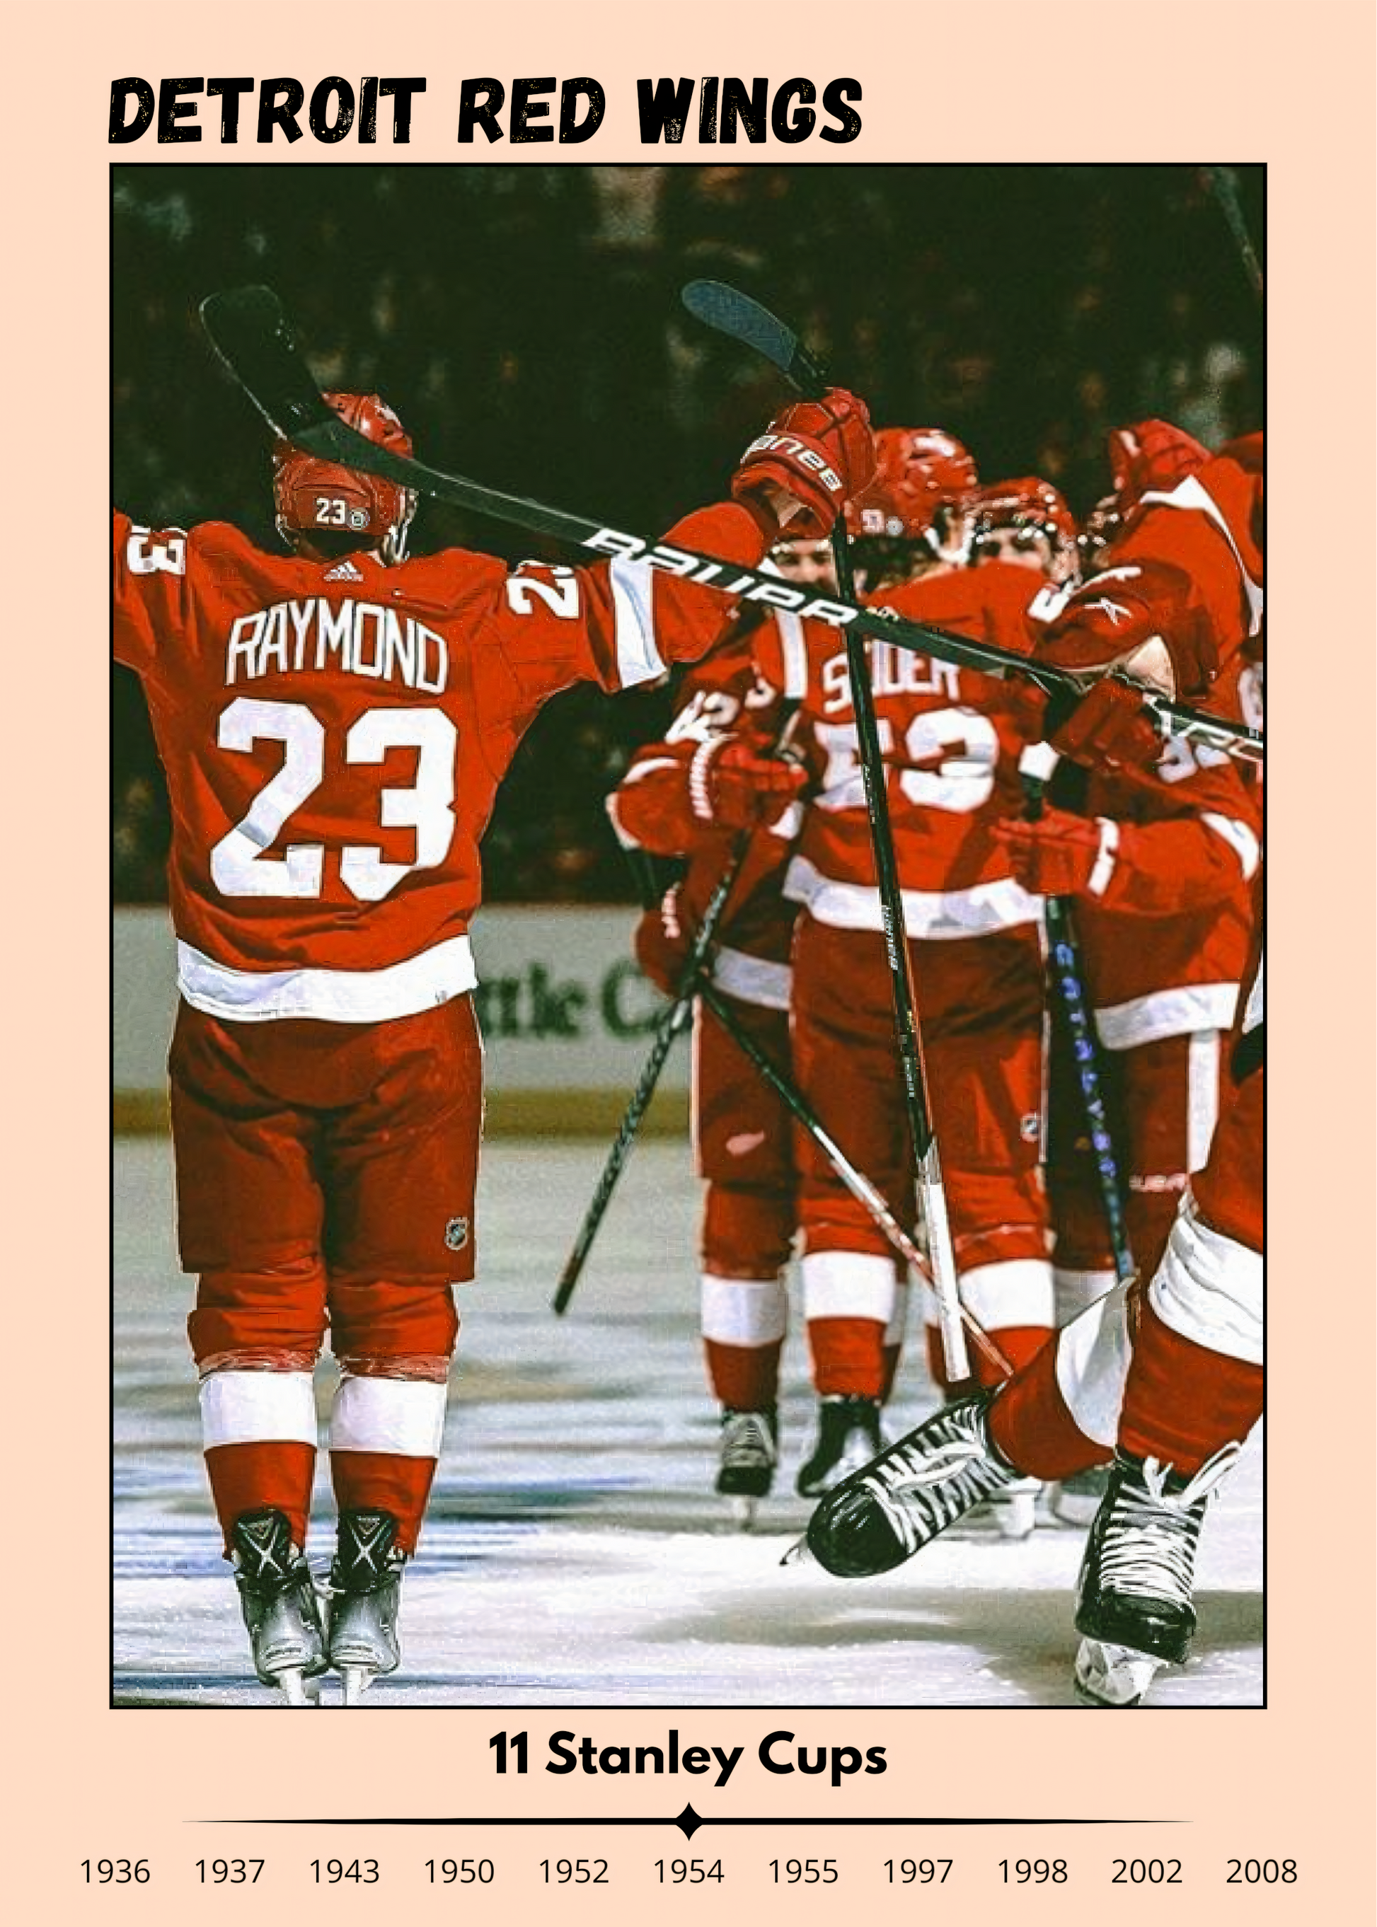
[[[220,748],[247,753],[264,740],[284,746],[282,769],[212,848],[210,877],[222,896],[320,896],[322,844],[287,844],[282,856],[264,852],[324,779],[326,726],[305,703],[237,696],[220,715]],[[339,852],[339,881],[361,902],[376,904],[411,871],[444,863],[455,829],[457,744],[459,730],[442,709],[364,709],[345,732],[345,763],[382,763],[390,750],[418,752],[415,780],[378,792],[380,829],[415,831],[415,859],[388,863],[374,844],[345,844]]]

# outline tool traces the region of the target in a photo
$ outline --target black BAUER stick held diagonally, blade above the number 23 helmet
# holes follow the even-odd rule
[[[899,649],[933,655],[958,669],[978,669],[987,676],[1020,674],[1049,694],[1057,690],[1082,692],[1080,676],[1047,663],[1032,663],[1012,649],[999,649],[970,636],[953,636],[928,624],[858,609],[837,597],[810,595],[762,568],[702,555],[696,549],[648,541],[644,536],[613,528],[608,522],[571,515],[565,509],[550,509],[525,495],[505,495],[482,482],[446,474],[426,462],[397,455],[393,449],[384,449],[355,434],[322,397],[297,349],[282,303],[268,287],[233,287],[208,295],[201,303],[201,320],[216,355],[249,393],[268,426],[309,455],[384,476],[403,488],[432,495],[436,501],[472,509],[498,522],[511,522],[573,547],[590,549],[604,561],[638,561],[646,568],[665,570],[719,594],[739,595],[742,601],[793,609],[800,617],[816,617],[835,628],[854,626],[864,636],[878,636]],[[1144,690],[1142,696],[1163,736],[1188,736],[1246,761],[1261,761],[1263,738],[1259,730],[1209,717],[1180,703],[1169,703],[1149,690]]]

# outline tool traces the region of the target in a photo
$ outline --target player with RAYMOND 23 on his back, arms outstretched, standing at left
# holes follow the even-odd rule
[[[332,407],[399,455],[376,395]],[[675,538],[754,563],[870,476],[864,405],[785,409],[733,501]],[[415,495],[278,443],[287,555],[226,524],[114,516],[114,651],[143,678],[172,796],[172,1129],[206,1470],[255,1667],[305,1703],[399,1659],[397,1597],[440,1451],[453,1285],[474,1272],[478,838],[538,707],[700,655],[712,592],[613,561],[407,559]],[[339,1364],[339,1544],[305,1563],[312,1368]]]

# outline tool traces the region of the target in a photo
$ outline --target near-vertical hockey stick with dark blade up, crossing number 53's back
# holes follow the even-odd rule
[[[690,314],[708,322],[723,335],[742,341],[766,355],[775,368],[781,368],[793,385],[814,399],[824,393],[825,380],[818,362],[798,347],[798,337],[785,328],[768,308],[748,295],[727,287],[723,281],[690,281],[681,295]],[[856,588],[850,574],[850,549],[847,543],[847,518],[837,516],[831,530],[831,553],[837,567],[837,590],[849,605],[856,601]],[[949,1384],[958,1384],[970,1376],[966,1337],[960,1320],[960,1295],[957,1285],[957,1256],[951,1243],[951,1224],[947,1218],[947,1193],[941,1183],[941,1162],[937,1158],[937,1137],[932,1125],[932,1098],[928,1093],[928,1073],[922,1058],[922,1037],[918,1031],[918,1000],[914,996],[912,956],[908,950],[908,929],[904,923],[903,888],[899,883],[899,859],[895,856],[895,836],[889,821],[889,790],[885,784],[883,750],[879,748],[879,723],[876,721],[876,692],[870,680],[870,657],[864,636],[856,626],[847,628],[847,676],[850,680],[850,707],[856,719],[856,750],[870,815],[870,846],[876,859],[876,888],[879,892],[879,919],[885,935],[885,956],[889,962],[889,985],[895,1006],[895,1037],[899,1043],[899,1068],[904,1083],[904,1114],[916,1164],[916,1187],[922,1220],[928,1227],[928,1256],[932,1262],[933,1297],[937,1301],[937,1320],[941,1324],[941,1349],[947,1364]]]

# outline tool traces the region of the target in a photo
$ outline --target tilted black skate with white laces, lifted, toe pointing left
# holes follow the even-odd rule
[[[806,1545],[841,1578],[893,1572],[957,1518],[1022,1474],[989,1438],[991,1393],[955,1399],[827,1493]]]

